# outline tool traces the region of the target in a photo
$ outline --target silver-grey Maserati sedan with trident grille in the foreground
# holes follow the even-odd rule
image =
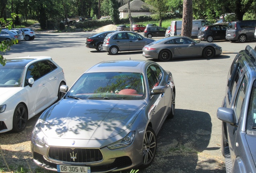
[[[151,165],[157,134],[175,112],[171,72],[145,60],[96,64],[39,117],[33,161],[58,172],[105,173]]]

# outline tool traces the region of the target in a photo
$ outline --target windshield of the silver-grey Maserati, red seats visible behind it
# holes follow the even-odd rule
[[[140,73],[85,73],[75,82],[65,98],[140,100],[145,98],[145,82]]]

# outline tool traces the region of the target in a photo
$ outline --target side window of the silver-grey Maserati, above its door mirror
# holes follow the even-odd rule
[[[151,65],[147,69],[147,79],[149,81],[149,88],[152,89],[155,86],[158,86],[162,80],[162,70],[157,65]]]

